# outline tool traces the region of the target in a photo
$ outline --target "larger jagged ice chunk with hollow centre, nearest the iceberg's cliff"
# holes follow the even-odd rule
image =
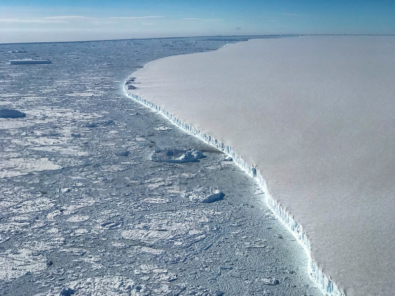
[[[203,152],[196,149],[161,149],[157,148],[151,159],[157,162],[186,163],[194,162],[206,157]]]

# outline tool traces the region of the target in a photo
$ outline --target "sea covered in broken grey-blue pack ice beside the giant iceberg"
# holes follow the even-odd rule
[[[320,295],[259,186],[123,94],[151,60],[240,40],[0,45],[0,109],[26,115],[0,118],[0,295]],[[27,58],[52,64],[9,65]]]

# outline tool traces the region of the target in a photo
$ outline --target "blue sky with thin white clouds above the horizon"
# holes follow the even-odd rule
[[[273,34],[395,34],[395,1],[0,1],[0,43]]]

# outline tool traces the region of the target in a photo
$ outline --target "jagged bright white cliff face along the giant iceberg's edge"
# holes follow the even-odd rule
[[[125,81],[126,83],[126,81]],[[268,207],[272,210],[272,212],[276,215],[276,217],[285,225],[285,227],[292,233],[292,235],[297,239],[299,244],[305,250],[307,257],[309,259],[308,272],[311,279],[316,283],[316,286],[322,290],[328,296],[345,296],[342,294],[336,284],[330,279],[330,277],[326,276],[322,270],[318,267],[318,264],[311,257],[311,248],[310,241],[306,232],[303,231],[303,227],[299,224],[292,215],[284,208],[281,207],[278,201],[273,198],[272,194],[269,192],[266,180],[263,178],[261,173],[257,171],[252,164],[248,164],[241,156],[239,156],[231,146],[226,145],[225,143],[207,135],[206,133],[200,131],[196,127],[183,122],[182,120],[174,117],[169,111],[164,110],[162,107],[143,99],[140,96],[132,94],[128,89],[128,85],[125,84],[125,94],[129,98],[134,101],[150,108],[153,111],[158,112],[166,119],[168,119],[171,123],[178,126],[182,130],[188,132],[189,134],[197,137],[199,140],[207,143],[227,155],[233,158],[233,161],[240,167],[248,176],[255,178],[258,185],[261,187],[263,192],[265,193],[266,203]]]

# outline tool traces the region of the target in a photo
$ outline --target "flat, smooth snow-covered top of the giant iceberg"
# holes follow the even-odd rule
[[[148,63],[133,93],[231,145],[346,295],[395,289],[395,37],[253,39]]]

